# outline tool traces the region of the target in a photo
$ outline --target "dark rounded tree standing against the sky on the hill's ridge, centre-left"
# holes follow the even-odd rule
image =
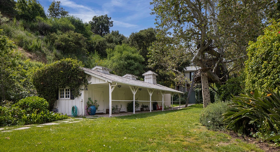
[[[113,21],[110,21],[111,17],[106,15],[94,16],[89,23],[91,24],[91,30],[94,34],[104,36],[110,33],[110,27],[113,26]]]

